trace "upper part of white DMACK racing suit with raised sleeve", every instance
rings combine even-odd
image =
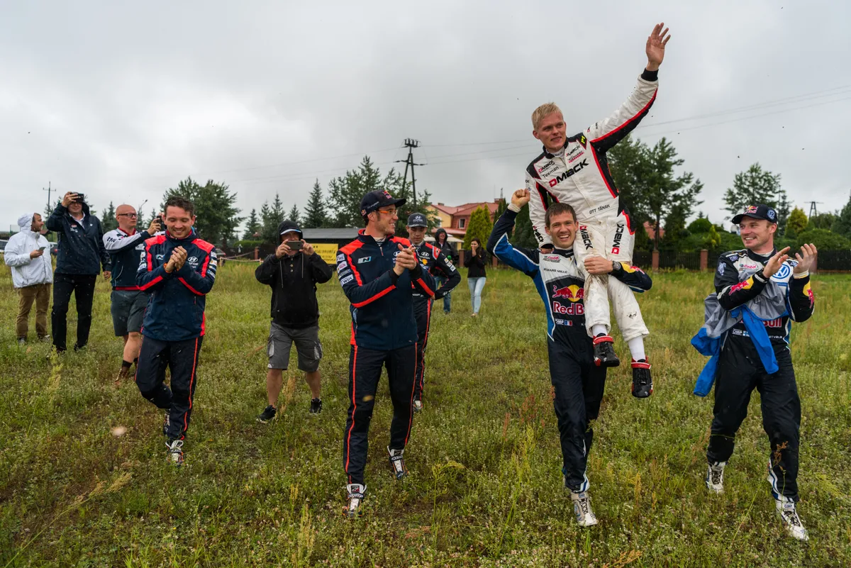
[[[544,149],[526,168],[526,188],[532,193],[529,219],[540,244],[551,243],[544,230],[544,216],[550,202],[563,202],[576,210],[576,220],[608,222],[624,213],[618,189],[608,171],[606,152],[634,130],[656,100],[659,72],[643,71],[636,88],[620,109],[584,132],[568,136],[563,153],[552,155]],[[631,227],[631,230],[635,230]]]

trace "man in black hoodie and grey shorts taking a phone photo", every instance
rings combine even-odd
[[[271,329],[267,354],[266,406],[258,422],[266,423],[277,414],[277,397],[283,385],[283,372],[289,364],[289,351],[295,344],[299,355],[299,370],[311,388],[311,414],[322,412],[319,389],[319,360],[322,343],[319,341],[319,304],[317,284],[331,279],[331,267],[313,252],[310,243],[302,238],[301,230],[292,221],[277,227],[280,244],[274,254],[266,257],[254,277],[271,287]]]

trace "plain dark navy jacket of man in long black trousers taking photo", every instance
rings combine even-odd
[[[83,226],[71,218],[71,213],[61,203],[48,217],[48,230],[59,237],[56,254],[56,274],[97,275],[100,269],[110,270],[110,258],[104,247],[104,230],[100,219],[89,213],[83,203]]]

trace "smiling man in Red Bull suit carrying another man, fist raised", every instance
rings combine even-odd
[[[554,245],[551,252],[511,246],[508,234],[529,198],[529,190],[514,192],[511,205],[494,225],[488,251],[532,278],[546,306],[547,350],[564,486],[570,490],[576,522],[580,526],[597,525],[585,468],[594,436],[591,420],[600,411],[606,367],[594,364],[593,341],[585,332],[584,274],[614,276],[637,292],[649,290],[653,282],[634,266],[602,257],[585,258],[584,270],[580,270],[573,253],[578,225],[574,208],[567,203],[553,203],[546,212],[545,230]]]

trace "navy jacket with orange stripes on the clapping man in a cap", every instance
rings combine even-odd
[[[390,351],[417,343],[414,288],[434,297],[434,277],[417,264],[401,276],[393,271],[399,245],[408,239],[387,236],[377,242],[360,230],[337,253],[337,275],[351,306],[351,344]]]

